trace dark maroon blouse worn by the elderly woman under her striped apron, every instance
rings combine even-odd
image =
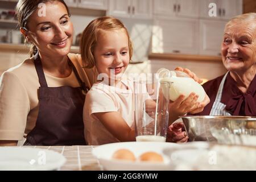
[[[216,99],[218,86],[220,86],[223,77],[224,75],[203,84],[204,90],[210,98],[210,103],[205,106],[201,113],[195,115],[210,114],[213,102]],[[242,93],[241,90],[238,89],[236,81],[234,81],[229,73],[225,80],[221,102],[226,105],[225,110],[231,115],[256,116],[256,75],[251,81],[247,92]]]

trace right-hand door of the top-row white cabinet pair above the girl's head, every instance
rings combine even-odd
[[[131,16],[134,18],[150,19],[152,18],[151,0],[133,0]]]

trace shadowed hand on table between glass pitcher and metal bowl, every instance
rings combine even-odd
[[[167,142],[184,143],[188,141],[188,136],[182,122],[172,123],[167,130]]]

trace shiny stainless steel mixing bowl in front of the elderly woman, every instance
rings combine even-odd
[[[188,133],[189,141],[256,146],[256,118],[210,115],[188,115],[181,118]]]

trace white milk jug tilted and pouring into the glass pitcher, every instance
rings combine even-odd
[[[171,101],[175,101],[181,94],[187,98],[192,92],[196,93],[199,98],[198,102],[202,102],[205,97],[205,91],[203,86],[189,77],[186,73],[180,71],[169,71],[168,69],[161,68],[158,70],[159,81],[172,82],[169,98]]]

